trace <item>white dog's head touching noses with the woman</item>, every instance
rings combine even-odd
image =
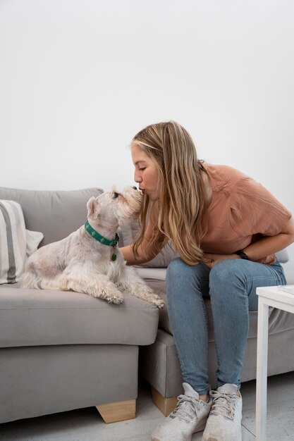
[[[93,227],[94,223],[128,225],[139,216],[142,201],[142,193],[136,187],[126,187],[121,193],[113,187],[109,192],[89,199],[87,217],[92,221]]]

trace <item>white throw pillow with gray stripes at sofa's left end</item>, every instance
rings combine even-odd
[[[25,220],[20,204],[0,199],[0,283],[18,282],[25,254]]]

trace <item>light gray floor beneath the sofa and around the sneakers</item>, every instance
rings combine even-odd
[[[255,440],[255,381],[244,383],[243,441]],[[268,380],[267,441],[294,441],[294,372]],[[149,441],[164,419],[152,402],[149,385],[140,380],[137,417],[105,424],[95,408],[80,409],[0,425],[1,441]],[[200,441],[202,433],[192,441]],[[265,440],[264,440],[265,441]]]

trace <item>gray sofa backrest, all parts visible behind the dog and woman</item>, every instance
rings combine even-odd
[[[90,197],[102,194],[101,188],[93,187],[84,190],[39,191],[17,190],[0,187],[0,199],[17,201],[23,209],[25,228],[40,231],[44,235],[40,246],[56,242],[77,230],[87,217],[87,201]],[[133,242],[139,231],[137,221],[123,227],[119,231],[123,247]],[[164,254],[159,254],[152,261],[142,266],[161,268],[178,256],[171,244],[166,245]],[[277,257],[281,263],[288,261],[286,249],[279,251]]]

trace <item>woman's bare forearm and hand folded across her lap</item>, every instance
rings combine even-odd
[[[253,244],[248,245],[243,251],[247,254],[250,261],[259,261],[270,254],[275,254],[281,249],[288,247],[294,242],[294,219],[290,218],[283,231],[276,236],[264,236]],[[237,251],[237,250],[236,250]],[[209,268],[212,268],[217,262],[224,259],[241,259],[238,254],[209,254],[205,253],[204,257],[212,259],[212,262],[207,263]]]

